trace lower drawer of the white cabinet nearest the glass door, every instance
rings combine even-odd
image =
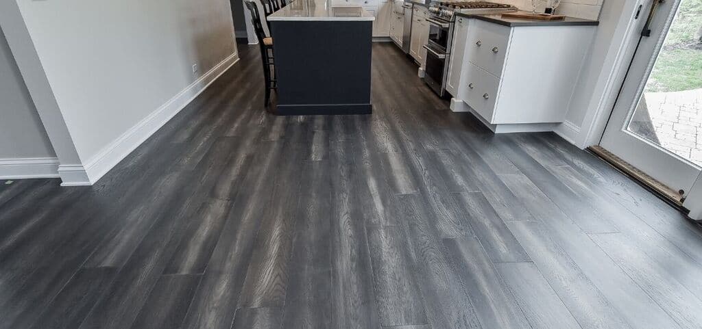
[[[463,88],[465,102],[486,121],[492,122],[500,90],[500,79],[471,63],[466,63]]]

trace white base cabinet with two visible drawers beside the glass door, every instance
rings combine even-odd
[[[543,124],[562,123],[595,27],[463,19],[465,25],[456,23],[446,83],[452,109],[467,104],[494,132],[550,130]]]

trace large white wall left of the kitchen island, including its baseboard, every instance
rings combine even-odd
[[[16,48],[34,48],[69,132],[62,139],[79,158],[73,169],[90,183],[238,58],[229,0],[6,1],[16,1],[31,39],[29,47],[14,36]],[[18,25],[0,14],[8,22]],[[22,74],[34,67],[20,64]]]

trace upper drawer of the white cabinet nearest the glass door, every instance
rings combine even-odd
[[[501,77],[510,44],[510,27],[475,20],[469,30],[466,45],[468,60],[494,76]]]

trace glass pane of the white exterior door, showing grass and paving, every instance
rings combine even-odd
[[[682,0],[628,130],[702,166],[702,0]]]

